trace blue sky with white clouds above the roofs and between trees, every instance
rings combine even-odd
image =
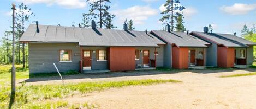
[[[4,31],[11,30],[11,4],[22,2],[35,14],[26,27],[39,21],[39,24],[71,26],[82,22],[82,14],[87,13],[86,0],[1,0],[0,1],[0,40]],[[94,1],[94,0],[91,0]],[[165,8],[166,0],[110,0],[110,12],[115,14],[114,25],[123,28],[124,20],[132,19],[135,30],[160,30],[164,27],[159,21]],[[183,10],[184,25],[189,31],[203,31],[209,24],[214,33],[241,34],[243,25],[253,27],[256,22],[256,0],[180,0]],[[0,42],[1,43],[1,42]]]

